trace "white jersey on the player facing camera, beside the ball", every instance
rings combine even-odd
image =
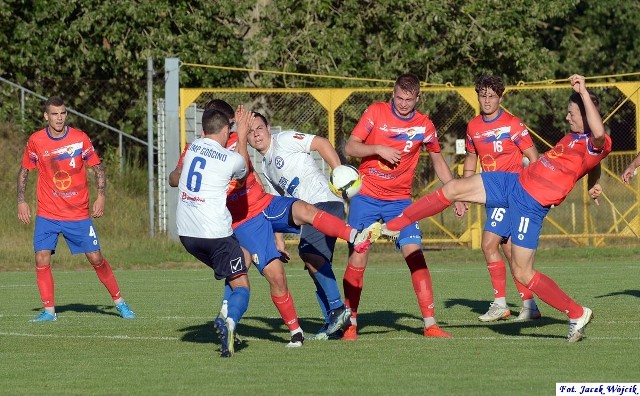
[[[310,204],[342,202],[342,199],[333,195],[327,176],[311,156],[314,137],[296,131],[272,135],[271,146],[262,159],[262,171],[280,195]]]

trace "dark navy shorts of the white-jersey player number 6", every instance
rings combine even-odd
[[[216,279],[235,278],[247,273],[244,254],[235,235],[226,238],[181,236],[180,242],[187,252],[213,270]]]

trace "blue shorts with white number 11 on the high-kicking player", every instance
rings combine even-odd
[[[542,206],[522,188],[517,173],[483,172],[480,174],[487,194],[487,207],[509,209],[511,243],[537,249],[544,217],[549,207]]]

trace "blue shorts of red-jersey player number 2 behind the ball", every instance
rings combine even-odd
[[[378,220],[387,222],[399,216],[409,205],[411,205],[411,199],[383,201],[381,199],[357,194],[351,198],[347,223],[349,223],[351,227],[361,230]],[[416,222],[400,230],[400,236],[398,237],[396,246],[420,245],[421,243],[422,231],[420,230],[420,224]]]

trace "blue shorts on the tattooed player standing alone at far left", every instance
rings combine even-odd
[[[98,234],[91,219],[51,220],[36,216],[33,230],[33,249],[36,252],[51,250],[55,254],[58,237],[62,234],[72,254],[91,253],[100,250]]]

